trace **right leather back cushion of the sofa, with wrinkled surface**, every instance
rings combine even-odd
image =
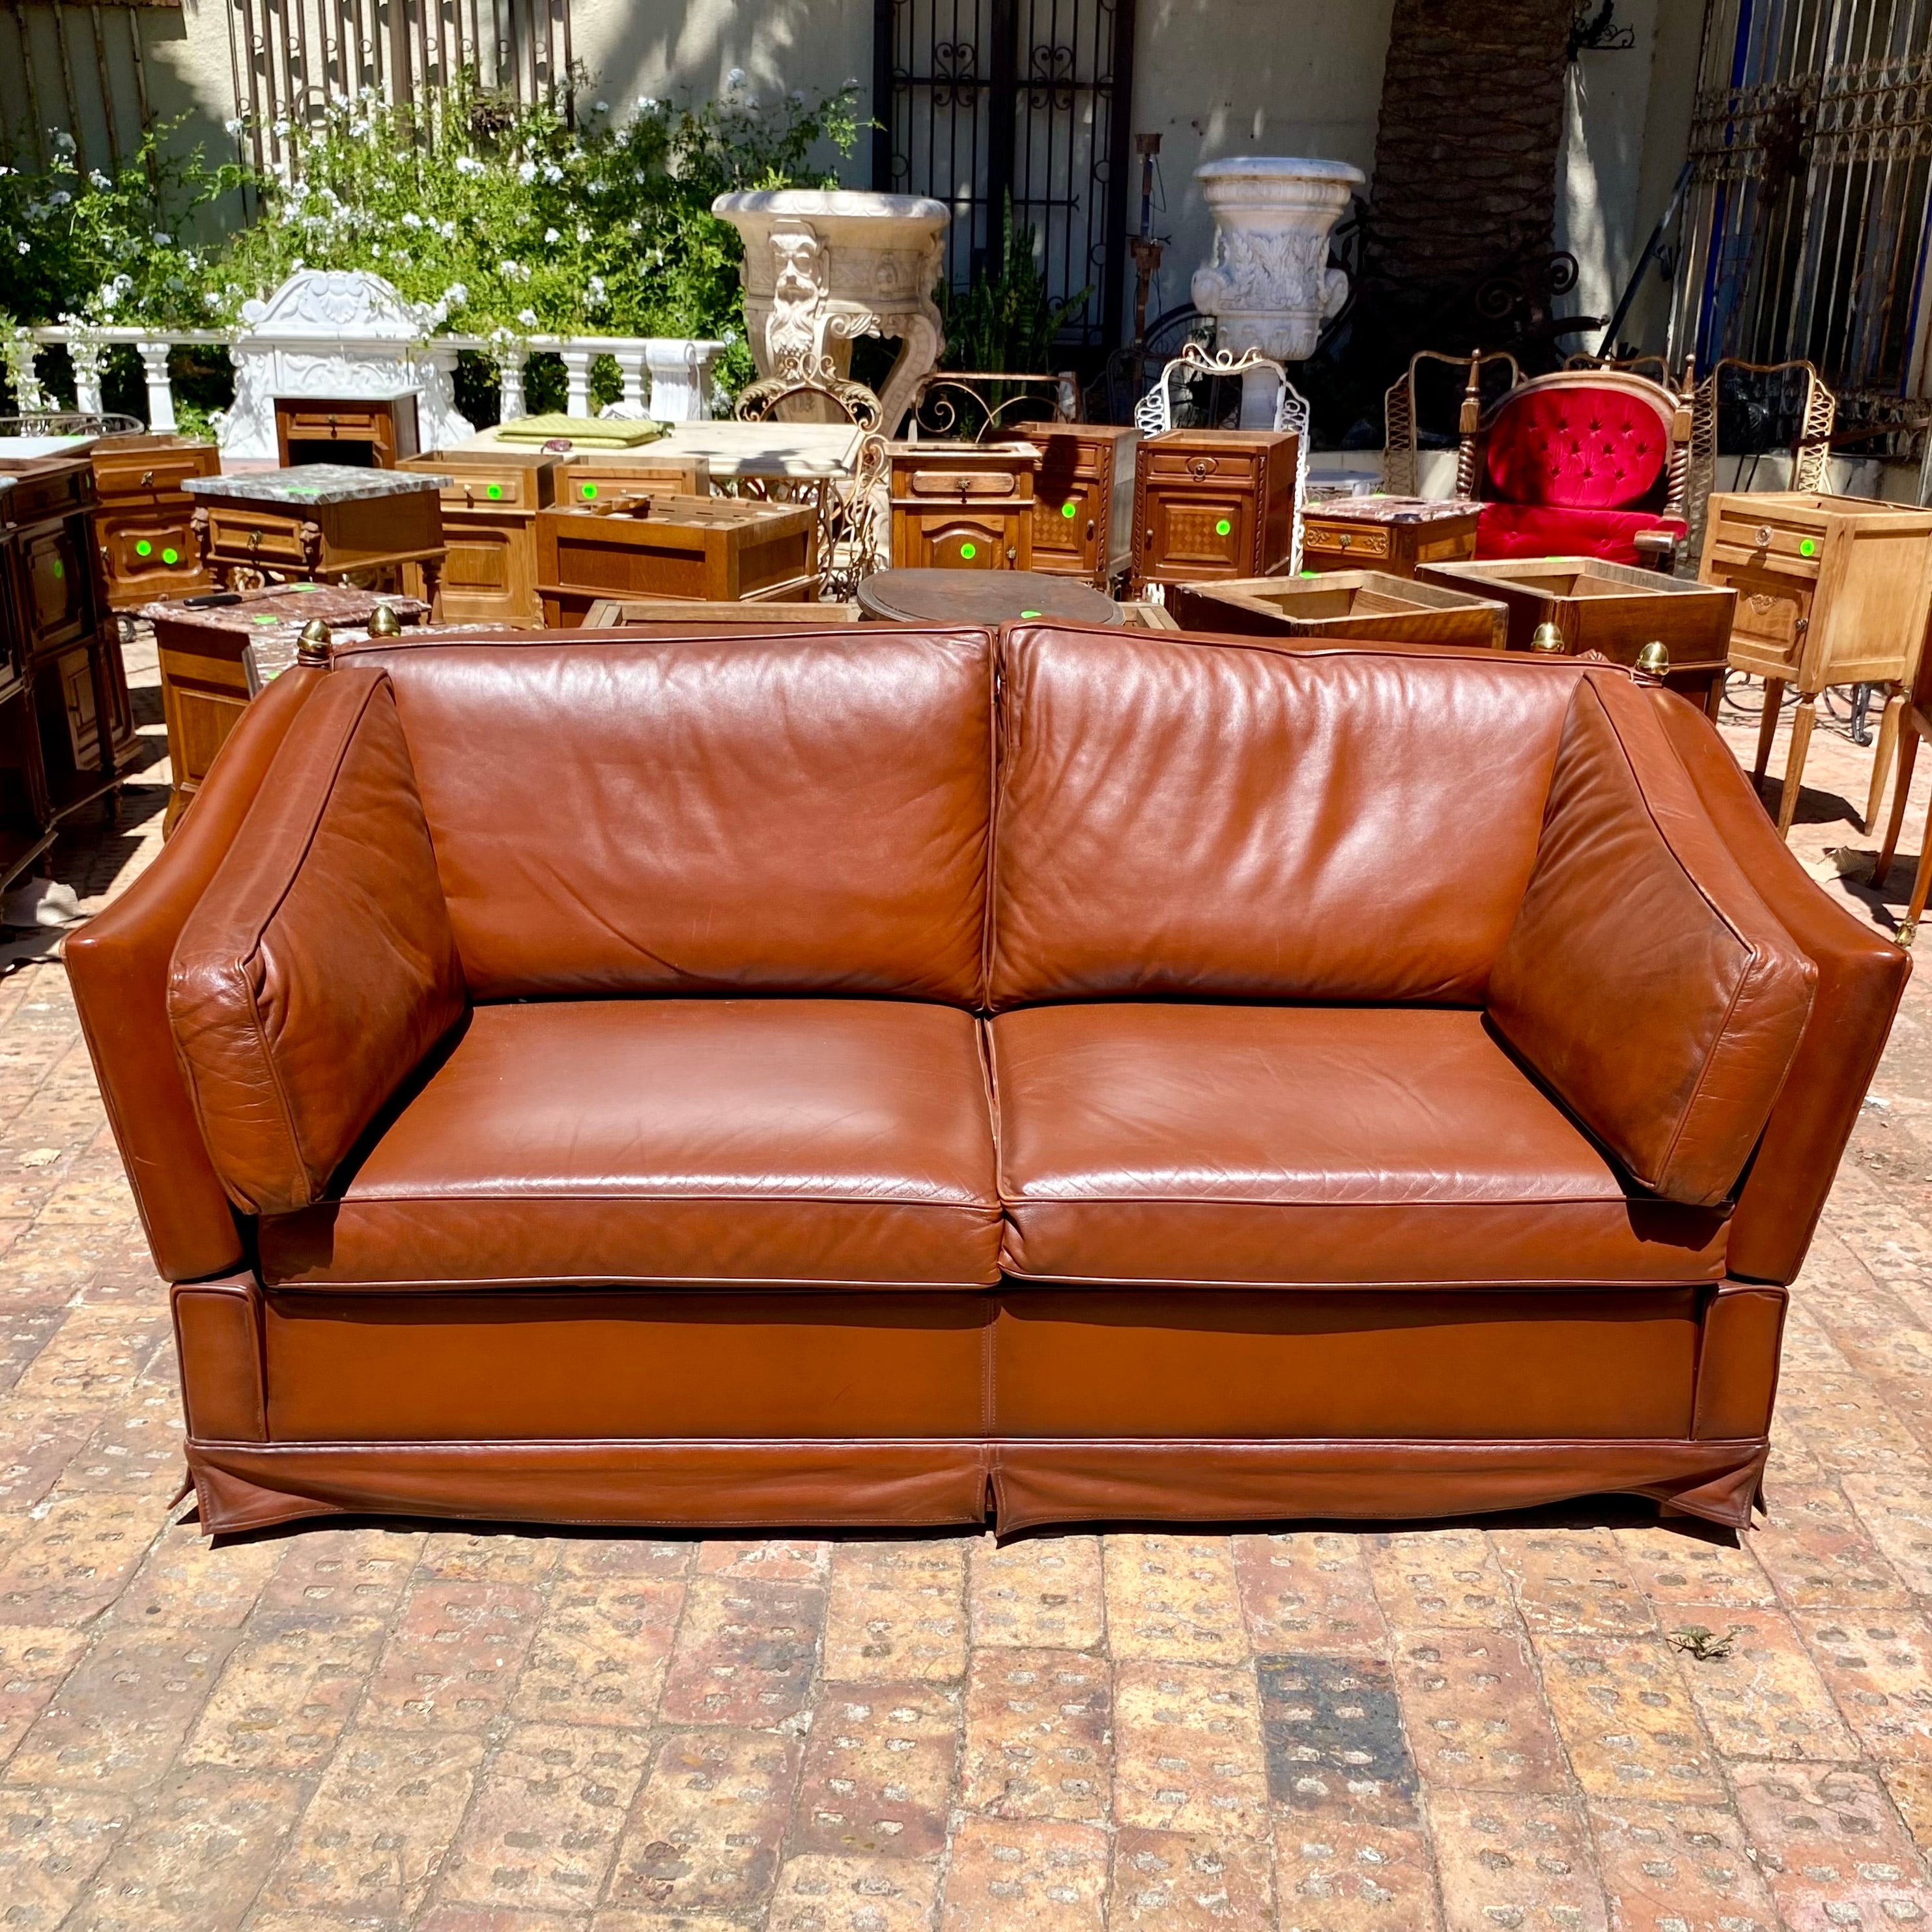
[[[991,1005],[1480,1005],[1575,663],[1010,632]]]

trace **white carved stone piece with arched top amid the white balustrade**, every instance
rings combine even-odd
[[[386,396],[419,390],[425,450],[468,442],[475,427],[456,408],[456,350],[427,340],[427,317],[379,274],[301,269],[267,301],[242,309],[236,400],[222,425],[222,460],[276,460],[276,396]]]

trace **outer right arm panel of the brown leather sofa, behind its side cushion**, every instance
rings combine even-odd
[[[1694,705],[1669,692],[1652,692],[1650,705],[1718,833],[1818,970],[1818,997],[1739,1190],[1725,1250],[1733,1275],[1791,1283],[1886,1051],[1913,960],[1791,856],[1729,746]]]

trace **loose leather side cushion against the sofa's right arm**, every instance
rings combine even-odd
[[[1492,1024],[1638,1186],[1714,1206],[1764,1132],[1816,983],[1644,696],[1619,674],[1578,680]]]

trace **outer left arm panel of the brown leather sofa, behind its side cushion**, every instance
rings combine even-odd
[[[114,1142],[166,1281],[222,1275],[243,1258],[174,1059],[168,962],[321,678],[298,665],[247,707],[155,864],[62,947]]]

